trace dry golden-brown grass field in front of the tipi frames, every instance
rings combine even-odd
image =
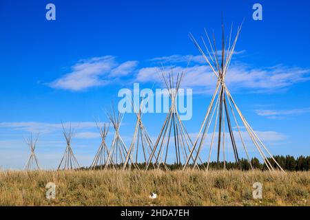
[[[257,181],[262,199],[252,197]],[[56,184],[55,199],[45,197],[48,182]],[[0,172],[0,206],[309,206],[309,194],[310,172]]]

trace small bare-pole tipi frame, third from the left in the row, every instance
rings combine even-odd
[[[99,125],[96,122],[96,126],[99,129],[101,135],[101,144],[99,149],[94,157],[91,168],[105,168],[105,164],[107,163],[107,158],[109,157],[109,149],[107,148],[107,143],[105,142],[105,138],[107,137],[107,133],[109,132],[110,124],[103,124],[103,126]]]

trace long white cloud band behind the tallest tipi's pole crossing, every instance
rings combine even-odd
[[[165,72],[169,72],[168,67]],[[170,67],[169,67],[170,68]],[[191,87],[194,93],[211,93],[216,84],[216,76],[207,65],[191,67],[175,66],[174,72],[184,72],[182,87]],[[141,68],[136,75],[138,82],[158,82],[161,69],[158,67]],[[226,83],[229,89],[247,89],[251,92],[271,93],[288,89],[291,85],[310,80],[310,69],[300,67],[251,68],[245,64],[231,65],[227,72]]]

